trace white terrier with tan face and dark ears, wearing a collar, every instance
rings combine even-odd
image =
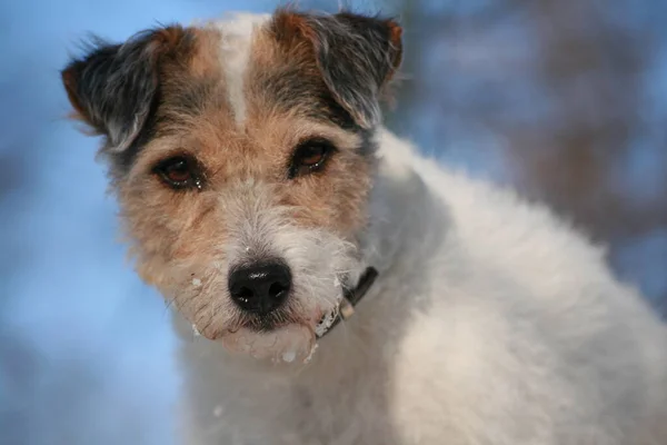
[[[667,329],[605,251],[381,122],[396,20],[279,9],[61,71],[182,338],[182,444],[665,445]]]

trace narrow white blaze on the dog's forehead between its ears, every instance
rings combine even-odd
[[[220,60],[226,77],[229,105],[238,126],[246,119],[245,77],[250,60],[252,34],[270,19],[270,14],[235,12],[217,22],[221,32]]]

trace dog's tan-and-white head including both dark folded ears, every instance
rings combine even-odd
[[[98,42],[62,71],[140,275],[203,336],[308,354],[357,261],[400,56],[390,20],[278,11]]]

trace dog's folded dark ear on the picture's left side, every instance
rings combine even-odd
[[[126,150],[157,98],[161,58],[181,50],[189,37],[172,26],[140,32],[121,44],[93,39],[87,53],[61,71],[73,117],[106,136],[107,150]]]

